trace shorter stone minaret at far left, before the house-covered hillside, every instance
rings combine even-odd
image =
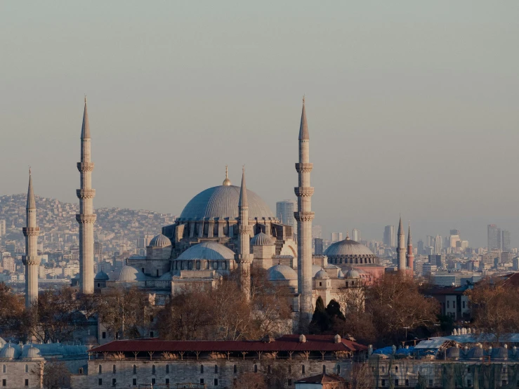
[[[25,236],[25,308],[31,308],[38,302],[38,235],[39,228],[36,224],[36,201],[32,190],[31,169],[29,169],[29,189],[27,190],[27,227],[23,228]]]

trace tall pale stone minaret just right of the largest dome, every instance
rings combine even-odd
[[[299,162],[296,171],[299,176],[299,186],[294,188],[297,196],[297,212],[294,217],[297,220],[297,280],[300,294],[299,311],[301,329],[306,329],[313,315],[312,303],[312,194],[310,187],[310,136],[306,123],[305,98],[303,98],[303,111],[301,112],[301,125],[299,126]]]

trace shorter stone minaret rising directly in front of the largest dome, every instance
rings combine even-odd
[[[239,268],[239,286],[247,301],[251,298],[251,226],[249,225],[249,201],[245,185],[245,168],[242,172],[242,187],[239,188],[238,202],[238,254],[236,262]]]

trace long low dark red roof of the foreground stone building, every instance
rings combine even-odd
[[[307,335],[306,342],[299,342],[298,335],[285,335],[275,341],[160,341],[152,339],[112,341],[92,348],[90,352],[240,352],[240,351],[361,351],[365,345],[341,339],[334,343],[334,336]]]

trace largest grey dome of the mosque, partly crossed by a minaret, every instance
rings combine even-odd
[[[249,199],[249,219],[272,218],[274,214],[258,194],[247,190]],[[238,218],[239,187],[220,185],[210,187],[195,197],[180,213],[180,220],[204,220],[206,218]]]

